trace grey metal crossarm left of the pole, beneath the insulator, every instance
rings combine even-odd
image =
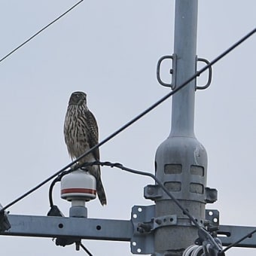
[[[94,218],[66,218],[32,215],[8,215],[9,230],[2,236],[38,236],[130,241],[133,222]]]

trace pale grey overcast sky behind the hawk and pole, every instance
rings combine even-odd
[[[75,1],[2,1],[1,48],[5,56]],[[100,140],[147,108],[168,88],[157,84],[156,63],[173,52],[174,0],[84,1],[66,17],[0,63],[2,178],[0,202],[14,200],[69,163],[62,126],[72,91],[87,92]],[[254,0],[199,1],[197,53],[214,59],[254,29]],[[208,186],[218,189],[221,224],[256,226],[255,35],[218,62],[212,85],[197,91],[195,133],[209,157]],[[168,79],[166,77],[166,79]],[[201,79],[201,78],[200,78]],[[203,79],[203,78],[202,78]],[[204,81],[200,80],[202,84]],[[102,146],[102,160],[154,173],[157,146],[169,135],[171,100]],[[102,168],[108,206],[87,204],[90,218],[130,219],[133,205],[149,205],[148,178]],[[49,184],[12,206],[11,214],[46,215]],[[69,203],[54,202],[65,215]],[[84,255],[50,239],[0,237],[2,254]],[[94,256],[130,255],[128,242],[84,241]],[[227,255],[253,255],[233,248]]]

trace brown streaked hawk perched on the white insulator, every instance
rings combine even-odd
[[[98,125],[93,113],[87,108],[87,95],[72,93],[64,123],[65,142],[72,160],[80,157],[99,143]],[[88,154],[79,163],[99,160],[99,148]],[[107,204],[99,166],[88,166],[88,172],[96,178],[96,190],[102,206]]]

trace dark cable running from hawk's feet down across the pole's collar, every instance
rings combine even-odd
[[[201,230],[201,232],[204,233],[204,235],[209,239],[209,241],[212,242],[212,245],[215,245],[215,247],[218,248],[219,251],[222,250],[221,246],[218,245],[218,243],[215,241],[215,239],[203,227],[200,227],[200,224],[198,224],[196,219],[192,215],[190,215],[190,212],[188,212],[188,210],[185,209],[181,205],[181,203],[179,203],[179,201],[172,195],[172,193],[169,192],[169,190],[167,190],[167,188],[164,186],[164,184],[154,174],[152,174],[150,172],[142,172],[142,171],[138,171],[135,169],[130,169],[130,168],[123,166],[121,163],[95,161],[95,162],[91,162],[91,163],[85,163],[83,166],[86,167],[86,166],[93,166],[93,165],[116,167],[116,168],[122,169],[126,172],[131,172],[134,174],[144,175],[144,176],[153,178],[154,181],[157,182],[157,184],[163,189],[163,191],[166,192],[166,194],[175,202],[175,204],[178,206],[178,208],[181,209],[183,214],[187,215],[187,217],[190,218],[190,221],[192,221],[194,223],[194,225],[197,227],[197,229]]]

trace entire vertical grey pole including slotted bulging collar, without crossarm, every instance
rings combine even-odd
[[[196,72],[197,0],[175,2],[176,58],[175,87]],[[172,129],[157,148],[156,175],[172,195],[200,224],[205,218],[207,154],[194,136],[194,98],[192,81],[172,98]],[[197,228],[175,203],[163,194],[157,198],[155,216],[163,221],[175,215],[176,225],[163,225],[155,231],[154,255],[181,255],[197,239]]]

